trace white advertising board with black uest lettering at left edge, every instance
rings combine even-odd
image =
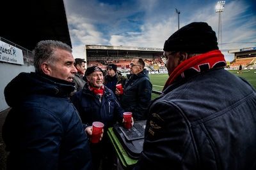
[[[0,61],[23,65],[22,50],[0,41]]]

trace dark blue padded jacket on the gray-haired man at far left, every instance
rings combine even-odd
[[[68,81],[36,73],[20,73],[6,86],[8,168],[91,169],[88,138],[68,99],[72,90]]]

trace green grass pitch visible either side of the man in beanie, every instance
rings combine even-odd
[[[237,71],[231,70],[230,73],[241,76],[249,81],[256,89],[256,70],[243,70],[243,73],[237,74]],[[168,74],[149,74],[150,81],[153,85],[153,90],[162,91]],[[157,94],[152,94],[152,99],[156,98]]]

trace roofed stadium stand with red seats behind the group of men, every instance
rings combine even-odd
[[[145,68],[148,71],[159,71],[160,66],[164,67],[161,55],[163,55],[161,48],[86,45],[85,60],[87,60],[88,67],[95,65],[102,69],[114,63],[117,69],[124,73],[129,72],[129,64],[134,57],[141,57],[145,60]]]

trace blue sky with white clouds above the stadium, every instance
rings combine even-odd
[[[218,1],[212,0],[64,0],[75,58],[83,58],[85,45],[163,48],[164,41],[191,22],[207,22],[218,37]],[[256,46],[256,1],[225,1],[221,13],[219,48],[226,60],[228,50]]]

